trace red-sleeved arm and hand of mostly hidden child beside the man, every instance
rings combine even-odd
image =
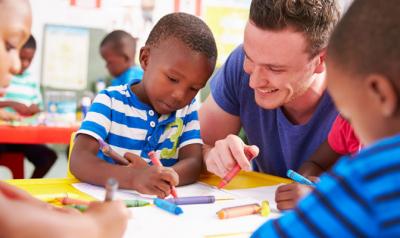
[[[312,181],[328,171],[343,155],[354,155],[361,149],[361,143],[350,123],[338,115],[328,134],[328,139],[317,149],[311,158],[300,167],[299,173]],[[297,202],[310,193],[314,187],[299,183],[279,186],[275,201],[280,210],[292,209]]]

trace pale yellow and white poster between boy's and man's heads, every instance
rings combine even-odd
[[[203,0],[203,19],[217,42],[218,67],[243,42],[249,8],[250,0]]]

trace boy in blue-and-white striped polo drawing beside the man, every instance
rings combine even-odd
[[[202,141],[193,98],[211,76],[216,57],[214,37],[199,18],[185,13],[161,18],[140,50],[143,80],[110,87],[95,98],[77,132],[71,172],[93,184],[112,176],[122,188],[159,197],[168,196],[171,185],[195,182]],[[155,151],[170,167],[117,165],[99,151],[98,140],[146,162]]]

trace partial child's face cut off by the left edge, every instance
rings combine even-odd
[[[31,12],[27,1],[4,0],[0,4],[0,89],[8,86],[12,74],[19,73],[19,49],[28,39],[30,29]]]

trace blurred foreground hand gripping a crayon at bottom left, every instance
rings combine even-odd
[[[99,238],[122,237],[131,216],[122,201],[92,202],[84,214],[96,223]]]

